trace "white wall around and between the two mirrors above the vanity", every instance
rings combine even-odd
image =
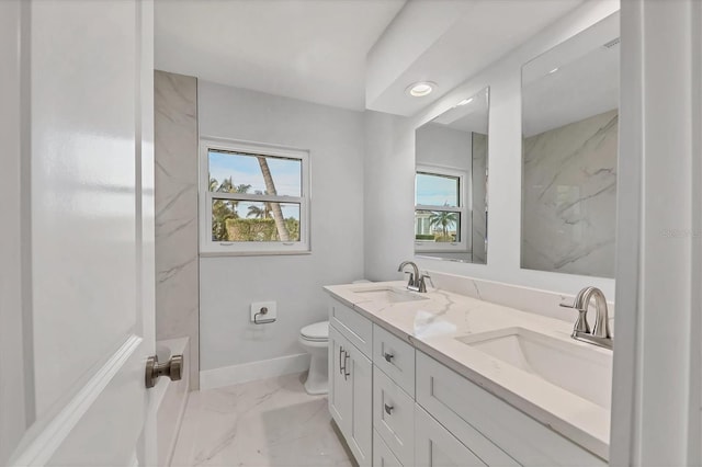
[[[614,296],[613,280],[520,269],[521,66],[618,9],[619,1],[615,0],[587,2],[412,118],[370,113],[365,168],[366,276],[397,278],[397,264],[412,258],[415,129],[461,99],[489,86],[488,263],[479,265],[428,259],[418,259],[418,263],[423,269],[566,294],[577,293],[585,285],[595,285],[602,288],[609,299]],[[383,228],[373,228],[374,225]]]

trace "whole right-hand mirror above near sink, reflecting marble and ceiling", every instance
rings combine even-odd
[[[614,277],[619,13],[522,67],[524,269]]]

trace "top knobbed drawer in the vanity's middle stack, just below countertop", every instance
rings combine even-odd
[[[373,324],[373,364],[415,397],[415,348]]]

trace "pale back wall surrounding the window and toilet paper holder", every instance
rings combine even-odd
[[[201,368],[301,354],[299,329],[327,318],[321,287],[363,276],[363,114],[200,81],[199,115],[201,137],[308,149],[312,168],[310,254],[201,258]],[[278,322],[250,322],[259,300]]]

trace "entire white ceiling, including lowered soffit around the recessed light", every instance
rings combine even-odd
[[[412,115],[582,0],[156,0],[165,71]],[[427,98],[408,84],[439,84]]]

